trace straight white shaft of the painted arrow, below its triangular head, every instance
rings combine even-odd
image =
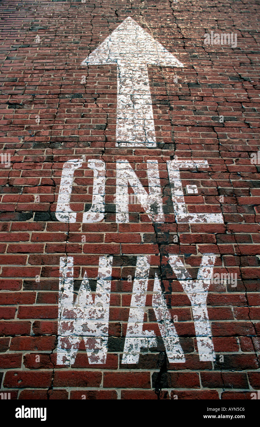
[[[146,64],[118,64],[116,146],[156,146]]]

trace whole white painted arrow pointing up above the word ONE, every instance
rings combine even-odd
[[[183,64],[130,17],[82,64],[117,64],[116,146],[156,146],[147,64]]]

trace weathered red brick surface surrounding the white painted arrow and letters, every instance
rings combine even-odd
[[[260,184],[250,161],[260,149],[259,12],[256,0],[1,2],[0,152],[11,165],[0,164],[0,380],[12,399],[250,399],[260,389]],[[116,148],[116,64],[81,65],[129,16],[184,64],[148,66],[154,148]],[[211,30],[236,33],[237,47],[205,45]],[[82,222],[93,190],[86,160],[74,173],[76,222],[58,221],[64,163],[82,155],[106,164],[104,219]],[[190,213],[222,213],[222,224],[176,222],[173,155],[208,161],[181,170],[185,203]],[[158,161],[163,223],[136,204],[129,222],[116,222],[121,159],[146,189],[147,160]],[[196,279],[209,253],[214,272],[237,274],[237,287],[208,292],[214,362],[199,360],[191,302],[168,263],[181,255]],[[87,272],[93,291],[104,254],[113,255],[106,363],[89,363],[81,342],[75,363],[57,366],[60,257],[73,257],[75,287]],[[138,255],[150,255],[144,328],[160,337],[156,273],[185,363],[169,363],[162,339],[122,363]]]

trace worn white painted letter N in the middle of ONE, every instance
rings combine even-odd
[[[116,162],[116,222],[129,222],[128,183],[153,222],[164,222],[162,191],[157,160],[147,160],[149,194],[127,160]]]

